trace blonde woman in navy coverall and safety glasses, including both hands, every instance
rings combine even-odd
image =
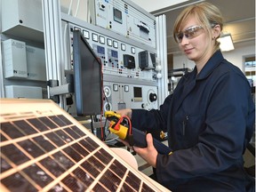
[[[134,150],[156,168],[156,180],[172,191],[248,191],[243,154],[252,138],[255,108],[244,74],[225,60],[219,42],[223,21],[209,3],[180,13],[173,36],[196,68],[180,79],[159,109],[123,109],[140,130],[168,132],[171,155],[158,154],[151,134]]]

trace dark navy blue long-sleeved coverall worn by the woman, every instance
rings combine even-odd
[[[253,184],[243,154],[255,106],[239,68],[213,54],[197,75],[182,76],[160,109],[132,109],[132,126],[168,132],[172,155],[157,155],[156,178],[172,191],[246,191]]]

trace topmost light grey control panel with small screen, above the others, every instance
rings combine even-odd
[[[93,24],[156,48],[156,18],[132,2],[95,0],[92,9]]]

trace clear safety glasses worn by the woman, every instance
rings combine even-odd
[[[175,39],[177,43],[181,43],[183,36],[186,36],[188,39],[193,39],[196,36],[199,36],[203,32],[203,27],[202,26],[192,26],[189,28],[186,28],[184,31],[180,31],[179,33],[175,34]]]

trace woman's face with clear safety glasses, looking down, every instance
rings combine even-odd
[[[194,60],[196,63],[206,62],[212,56],[214,41],[212,36],[208,36],[207,31],[200,26],[194,17],[188,18],[180,33],[176,35],[180,50],[185,53],[188,60]]]

